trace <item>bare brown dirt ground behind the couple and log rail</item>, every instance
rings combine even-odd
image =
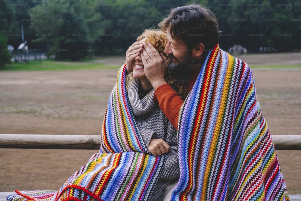
[[[300,135],[300,53],[245,55],[272,135]],[[93,61],[122,64],[124,58]],[[116,70],[0,72],[0,133],[99,135]],[[0,191],[58,190],[97,150],[0,149]],[[289,194],[301,194],[301,150],[278,150]]]

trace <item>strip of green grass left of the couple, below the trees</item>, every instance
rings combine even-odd
[[[90,60],[89,60],[90,61]],[[1,71],[66,71],[79,69],[118,69],[120,66],[110,66],[100,63],[87,63],[85,61],[53,61],[50,59],[40,61],[29,61],[29,63],[5,64]]]

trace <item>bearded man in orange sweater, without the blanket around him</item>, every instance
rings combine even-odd
[[[187,86],[190,91],[208,51],[218,44],[219,26],[216,17],[208,8],[198,5],[183,6],[173,9],[169,16],[159,24],[159,27],[166,32],[168,40],[165,53],[173,56],[169,68],[191,71]],[[148,52],[150,52],[149,55]],[[178,111],[183,101],[172,92],[171,87],[164,80],[166,71],[163,68],[164,61],[151,46],[144,46],[141,57],[142,59],[150,58],[145,61],[147,63],[144,67],[145,74],[156,90],[155,97],[162,105],[161,109],[165,108],[164,106],[170,108],[170,105],[174,105],[174,108],[166,112],[166,115],[177,129]]]

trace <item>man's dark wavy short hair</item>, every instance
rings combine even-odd
[[[188,49],[203,43],[204,51],[208,52],[219,43],[220,31],[215,14],[198,4],[173,8],[158,26],[163,32],[169,30],[172,39],[182,39]]]

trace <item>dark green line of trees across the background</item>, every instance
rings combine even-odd
[[[29,49],[47,51],[57,60],[125,55],[144,28],[157,28],[171,8],[192,2],[216,14],[222,49],[234,44],[249,52],[301,49],[298,0],[2,0],[0,48],[10,44],[17,49],[23,25]]]

